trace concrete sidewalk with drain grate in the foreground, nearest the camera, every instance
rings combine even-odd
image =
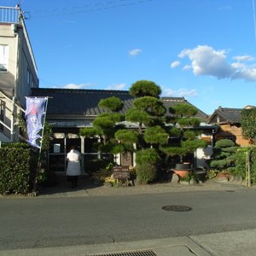
[[[75,247],[1,251],[2,256],[252,256],[256,230]]]

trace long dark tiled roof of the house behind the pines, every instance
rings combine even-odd
[[[49,89],[33,88],[32,96],[49,96],[47,113],[48,115],[83,115],[96,116],[104,112],[98,108],[98,102],[111,96],[117,96],[124,102],[122,113],[132,107],[133,97],[128,90],[78,90],[78,89]],[[187,102],[183,97],[163,97],[166,109],[178,102]],[[190,103],[189,103],[190,104]],[[190,104],[191,105],[191,104]],[[195,107],[195,106],[194,106]],[[207,114],[198,109],[197,117],[207,119]]]

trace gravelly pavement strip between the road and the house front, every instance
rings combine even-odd
[[[255,187],[252,187],[254,189]],[[177,193],[184,191],[206,191],[206,190],[234,190],[248,189],[239,182],[220,182],[210,180],[206,183],[183,184],[177,182],[154,183],[148,185],[109,187],[106,185],[95,185],[90,183],[86,177],[80,177],[79,186],[71,189],[70,183],[61,180],[60,184],[54,187],[40,189],[38,197],[77,197],[77,196],[109,196],[109,195],[137,195],[155,193]]]

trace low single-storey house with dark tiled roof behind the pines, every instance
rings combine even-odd
[[[93,120],[105,110],[97,106],[101,99],[111,96],[119,97],[124,102],[121,113],[131,108],[133,97],[127,90],[73,90],[73,89],[44,89],[33,88],[32,96],[48,96],[47,122],[52,126],[55,138],[49,150],[49,167],[56,172],[64,172],[66,167],[65,156],[71,145],[76,145],[84,155],[83,169],[86,170],[88,160],[102,157],[102,154],[93,150],[93,143],[97,138],[79,137],[79,129],[91,127]],[[187,102],[183,97],[163,97],[166,109],[179,102]],[[201,119],[201,130],[204,137],[212,143],[212,129],[216,127],[206,125],[207,114],[198,109],[197,117]],[[137,128],[136,124],[125,122],[127,129]],[[108,157],[108,155],[103,155]],[[120,155],[116,161],[120,165],[135,165],[134,158],[126,159]]]

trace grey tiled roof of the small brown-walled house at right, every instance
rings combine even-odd
[[[240,124],[242,108],[218,107],[209,117],[207,124]]]

